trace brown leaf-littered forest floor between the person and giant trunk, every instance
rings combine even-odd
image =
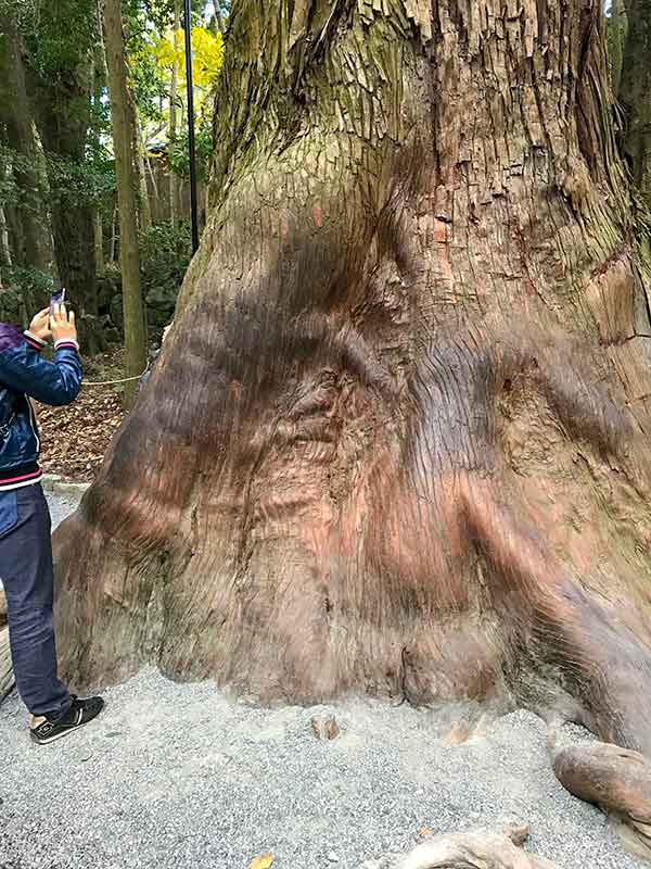
[[[124,349],[84,360],[85,385],[68,407],[37,405],[41,465],[47,474],[90,482],[125,417],[120,386],[92,386],[124,377]]]

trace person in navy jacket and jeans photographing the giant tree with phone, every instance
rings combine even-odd
[[[54,341],[52,362],[40,353]],[[46,745],[95,718],[101,697],[80,700],[60,680],[52,622],[51,520],[38,464],[40,439],[30,399],[71,404],[81,386],[75,315],[41,311],[22,333],[0,324],[0,578],[21,698],[31,739]]]

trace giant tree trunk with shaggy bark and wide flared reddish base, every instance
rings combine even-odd
[[[651,753],[649,273],[598,5],[233,5],[202,247],[56,537],[75,682],[525,704]]]

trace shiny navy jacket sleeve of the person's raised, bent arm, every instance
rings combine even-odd
[[[81,387],[81,360],[72,344],[60,348],[52,362],[27,341],[0,353],[0,381],[15,392],[55,407],[72,404]]]

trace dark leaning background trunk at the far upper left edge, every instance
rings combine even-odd
[[[44,201],[44,158],[25,85],[25,67],[16,23],[11,11],[0,11],[0,125],[8,143],[17,152],[13,172],[23,193],[16,211],[24,241],[23,260],[43,272],[53,266],[52,234]]]

